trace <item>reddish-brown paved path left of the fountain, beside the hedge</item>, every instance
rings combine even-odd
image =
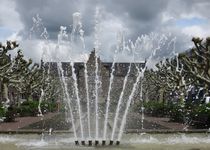
[[[2,122],[0,123],[0,131],[14,131],[19,130],[25,126],[30,124],[39,122],[41,120],[47,120],[58,113],[47,113],[43,117],[17,117],[15,118],[15,122]]]

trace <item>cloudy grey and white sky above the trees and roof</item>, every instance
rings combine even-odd
[[[18,40],[26,57],[39,61],[43,50],[52,55],[64,54],[79,58],[81,52],[90,52],[95,41],[95,16],[99,8],[97,32],[100,41],[100,55],[110,61],[116,44],[135,45],[143,60],[159,48],[159,55],[167,57],[172,51],[180,52],[192,46],[192,36],[205,38],[210,35],[209,0],[0,0],[0,41]],[[72,14],[81,13],[82,29],[86,48],[80,46],[71,52],[57,50],[57,35],[60,26],[66,26],[67,34],[72,33]],[[41,40],[40,31],[34,29],[29,40],[33,17],[39,14],[42,26],[46,27],[49,38]],[[163,39],[160,44],[160,39]],[[44,46],[43,46],[43,43]],[[77,41],[77,44],[79,42]],[[148,44],[149,43],[149,44]],[[159,43],[159,44],[158,44]],[[172,44],[173,43],[173,44]],[[171,45],[170,45],[171,44]],[[78,44],[81,45],[81,42]],[[152,46],[151,46],[152,45]],[[160,46],[161,45],[161,46]],[[170,46],[167,46],[170,45]],[[158,47],[159,46],[159,47]],[[52,50],[53,49],[53,50]],[[129,61],[132,52],[119,54],[122,61]],[[61,55],[61,57],[64,57]]]

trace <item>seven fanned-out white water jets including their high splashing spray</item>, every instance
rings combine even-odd
[[[72,58],[70,58],[70,67],[71,67],[71,78],[73,79],[73,94],[75,94],[75,99],[73,99],[73,94],[70,95],[69,91],[70,88],[68,87],[67,84],[67,79],[65,77],[64,74],[64,69],[62,67],[62,62],[61,59],[59,59],[58,63],[57,63],[57,69],[58,69],[58,76],[60,78],[61,81],[61,87],[63,89],[63,95],[64,95],[64,101],[66,104],[66,107],[69,111],[70,114],[70,120],[72,123],[72,129],[74,132],[74,137],[75,140],[78,141],[78,139],[81,139],[82,141],[85,140],[85,134],[84,134],[84,129],[85,129],[85,124],[83,124],[83,120],[82,120],[82,116],[84,114],[87,113],[87,128],[88,128],[88,139],[92,140],[91,138],[95,138],[96,141],[98,141],[98,139],[100,138],[99,135],[99,89],[101,88],[101,81],[100,81],[100,64],[99,64],[99,54],[100,54],[100,48],[101,48],[101,43],[100,43],[100,32],[101,32],[101,26],[100,26],[100,10],[99,8],[96,9],[96,13],[95,13],[95,41],[94,41],[94,47],[95,47],[95,86],[94,86],[94,108],[95,108],[95,120],[91,120],[91,114],[90,114],[90,109],[91,109],[91,100],[90,100],[90,95],[89,95],[89,76],[88,76],[88,67],[87,67],[87,61],[84,61],[84,79],[85,79],[85,93],[86,93],[86,105],[87,105],[87,112],[83,112],[82,111],[82,105],[80,104],[80,93],[79,93],[79,87],[78,87],[78,78],[77,75],[75,73],[75,62],[73,61]],[[42,23],[39,23],[38,21],[41,20],[41,18],[38,16],[37,18],[34,19],[34,21],[36,22],[37,25],[34,25],[34,28],[39,28],[39,26],[41,25],[43,27]],[[31,31],[33,32],[33,30]],[[81,14],[76,12],[73,14],[73,28],[72,31],[70,33],[70,38],[66,32],[66,27],[61,26],[60,27],[60,32],[58,34],[58,44],[56,49],[57,50],[61,50],[63,49],[63,45],[64,46],[68,46],[68,49],[71,51],[74,48],[74,44],[77,38],[77,35],[79,35],[79,39],[82,43],[82,48],[83,50],[85,50],[86,46],[85,46],[85,39],[84,39],[84,30],[82,29],[82,22],[81,22]],[[43,28],[43,32],[41,34],[41,37],[43,37],[44,39],[46,39],[46,41],[48,41],[48,34],[47,34],[47,30],[46,28]],[[158,39],[158,40],[157,40]],[[121,32],[121,34],[118,35],[118,45],[117,45],[117,50],[118,52],[122,52],[124,50],[129,50],[133,53],[133,57],[135,57],[136,54],[140,53],[139,50],[152,50],[151,55],[148,57],[147,63],[151,63],[152,62],[152,58],[156,55],[156,52],[158,50],[161,49],[161,45],[165,44],[165,42],[167,37],[166,36],[160,36],[158,37],[155,34],[151,34],[151,35],[144,35],[141,37],[138,37],[137,40],[135,41],[135,43],[133,43],[131,40],[129,40],[128,44],[130,45],[126,45],[125,44],[125,37],[123,35],[123,33]],[[157,42],[156,42],[157,41]],[[47,50],[48,51],[48,50]],[[115,52],[116,53],[116,52]],[[45,56],[46,55],[46,56]],[[52,58],[50,55],[46,54],[43,52],[43,58],[44,57],[50,57]],[[106,109],[105,109],[105,113],[104,113],[104,124],[103,124],[103,134],[102,134],[102,139],[103,140],[107,140],[108,137],[108,132],[107,132],[107,126],[108,126],[108,120],[109,120],[109,114],[110,114],[110,103],[112,101],[111,98],[111,92],[112,92],[112,84],[114,82],[114,72],[115,72],[115,65],[116,65],[116,57],[117,54],[114,54],[114,59],[112,62],[112,66],[111,66],[111,73],[110,73],[110,79],[109,79],[109,86],[108,86],[108,92],[107,92],[107,101],[106,101]],[[44,59],[45,61],[47,59]],[[52,61],[52,59],[50,59],[50,61]],[[135,63],[135,59],[134,62]],[[114,115],[114,123],[113,123],[113,127],[111,130],[111,137],[110,140],[114,141],[115,140],[115,135],[117,134],[116,130],[117,130],[117,126],[119,124],[120,128],[118,131],[118,135],[117,135],[117,141],[120,141],[122,138],[122,134],[123,134],[123,130],[126,124],[126,118],[129,112],[129,108],[131,105],[131,101],[133,100],[135,91],[137,90],[137,87],[140,83],[140,101],[142,102],[142,106],[141,106],[141,126],[142,129],[143,124],[144,124],[144,105],[143,105],[143,83],[142,83],[142,79],[144,77],[144,71],[146,69],[146,66],[148,66],[148,64],[146,64],[144,66],[144,68],[141,67],[137,67],[137,74],[136,74],[136,81],[133,84],[131,93],[128,97],[128,100],[126,101],[126,108],[123,114],[123,117],[120,118],[120,110],[122,108],[123,105],[123,97],[124,97],[124,93],[126,90],[126,85],[128,84],[128,77],[130,75],[131,72],[131,62],[129,64],[128,67],[128,71],[123,79],[123,87],[120,93],[120,96],[118,98],[117,101],[117,106],[116,106],[116,112],[113,114]],[[178,66],[178,65],[177,65]],[[49,69],[50,67],[48,67]],[[141,80],[141,82],[140,82]],[[43,92],[44,93],[44,92]],[[41,101],[42,101],[42,97],[43,97],[43,93],[41,94],[40,97],[40,105],[41,105]],[[72,97],[71,97],[72,96]],[[76,101],[76,106],[73,106],[73,102]],[[40,107],[39,105],[39,107]],[[77,114],[73,114],[73,109],[77,108]],[[40,109],[41,110],[41,109]],[[41,113],[40,113],[41,114]],[[78,116],[76,116],[78,115]],[[79,127],[80,127],[80,132],[81,132],[81,137],[79,137],[77,134],[77,130],[76,130],[76,117],[79,117]],[[120,119],[122,119],[122,121],[119,121]],[[91,135],[91,121],[95,121],[95,136]]]

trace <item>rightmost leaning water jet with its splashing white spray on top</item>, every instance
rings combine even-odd
[[[127,101],[127,104],[126,104],[126,110],[124,112],[124,115],[123,115],[123,118],[122,118],[122,121],[121,121],[121,124],[120,124],[120,130],[119,130],[118,138],[117,138],[118,143],[121,140],[123,129],[124,129],[124,126],[126,124],[126,116],[127,116],[127,113],[128,113],[128,109],[130,107],[131,100],[133,99],[134,93],[136,91],[136,88],[137,88],[137,85],[138,85],[138,82],[139,82],[140,79],[141,79],[141,82],[140,82],[141,128],[144,129],[144,101],[143,101],[144,72],[145,72],[146,68],[151,67],[151,66],[148,66],[148,64],[151,65],[152,59],[154,59],[154,57],[156,56],[157,51],[161,50],[162,46],[166,44],[167,40],[168,40],[168,37],[165,36],[165,35],[159,36],[159,35],[155,35],[155,34],[152,33],[150,35],[144,35],[144,36],[138,37],[137,40],[135,41],[135,43],[130,41],[129,42],[130,46],[129,45],[124,45],[123,49],[126,48],[126,49],[129,49],[129,51],[133,52],[134,63],[135,63],[135,55],[134,54],[137,54],[136,52],[138,50],[149,49],[149,50],[151,50],[151,54],[149,55],[149,57],[147,59],[147,62],[145,63],[145,66],[143,68],[138,68],[136,66],[136,69],[138,70],[138,72],[137,72],[138,76],[137,76],[136,82],[133,85],[132,92],[131,92],[131,94],[129,96],[129,99]],[[175,44],[174,44],[175,41],[176,41],[176,38],[173,38],[168,43],[167,49],[169,49],[169,46],[171,44],[173,44],[173,49],[175,49]],[[119,104],[119,102],[120,102],[120,100],[118,101],[118,104]],[[118,108],[117,108],[117,110],[118,110]],[[118,115],[117,112],[116,112],[116,115]],[[115,129],[115,124],[116,124],[116,120],[114,122],[113,130]],[[113,139],[114,139],[114,133],[112,132],[111,141],[113,141]]]

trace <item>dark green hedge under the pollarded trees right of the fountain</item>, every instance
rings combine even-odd
[[[144,103],[145,114],[154,117],[169,117],[171,121],[186,123],[195,128],[210,127],[210,104],[164,104],[157,101]],[[142,104],[134,105],[134,111],[141,112]]]

